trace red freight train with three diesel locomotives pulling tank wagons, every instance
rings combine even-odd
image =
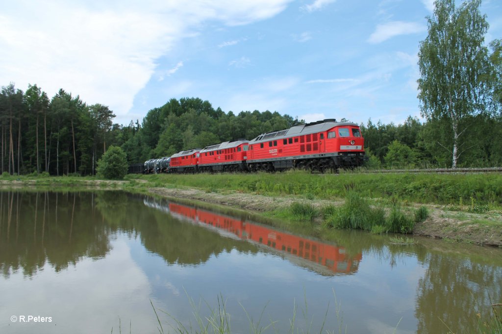
[[[143,164],[142,173],[273,172],[293,168],[324,172],[354,168],[365,160],[359,126],[324,119],[263,133],[252,140],[226,141],[150,159]],[[139,173],[140,168],[132,166],[130,173]]]

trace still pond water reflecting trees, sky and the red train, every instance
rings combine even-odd
[[[218,298],[232,333],[262,313],[267,332],[470,332],[501,301],[500,249],[329,239],[122,192],[0,192],[0,332],[155,333],[152,304],[164,332],[197,329]]]

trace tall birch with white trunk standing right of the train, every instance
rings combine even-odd
[[[454,0],[437,0],[427,17],[428,36],[420,43],[418,80],[420,109],[428,120],[445,119],[452,130],[449,142],[452,168],[463,151],[463,120],[486,110],[490,73],[484,35],[488,29],[481,15],[481,0],[468,0],[455,8]]]

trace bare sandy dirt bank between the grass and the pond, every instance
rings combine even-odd
[[[259,212],[287,207],[293,202],[307,202],[316,206],[343,203],[341,201],[308,201],[294,197],[269,197],[237,192],[208,193],[197,189],[150,188],[149,192],[160,196],[198,200]],[[463,211],[450,211],[443,206],[428,206],[428,209],[429,218],[415,226],[413,231],[415,235],[502,247],[502,213],[471,214]]]

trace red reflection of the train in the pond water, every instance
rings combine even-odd
[[[362,259],[361,253],[349,258],[343,247],[208,210],[153,198],[145,198],[144,203],[146,206],[169,213],[180,220],[216,229],[222,236],[265,245],[269,250],[278,251],[281,256],[288,258],[291,262],[309,267],[323,275],[355,273]]]

